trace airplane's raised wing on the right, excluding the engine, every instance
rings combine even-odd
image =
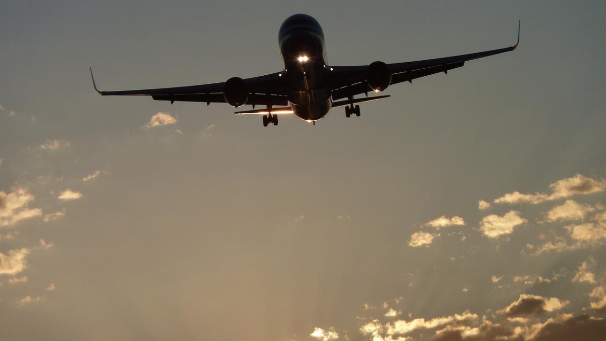
[[[439,72],[448,73],[448,70],[461,67],[466,61],[513,51],[516,49],[516,47],[518,47],[519,42],[520,22],[518,21],[518,41],[514,46],[476,53],[468,53],[467,55],[387,64],[391,72],[390,84],[398,84],[406,81],[412,83],[412,80],[416,78],[433,75],[434,73]],[[367,70],[367,65],[333,66],[331,85],[333,100],[348,98],[354,95],[359,95],[360,93],[368,93],[371,91],[370,87],[366,83]]]

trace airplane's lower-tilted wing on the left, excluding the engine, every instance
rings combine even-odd
[[[151,96],[153,100],[170,101],[170,103],[175,101],[206,102],[207,104],[226,102],[223,95],[225,82],[158,89],[100,91],[95,84],[92,69],[90,69],[90,76],[93,79],[95,90],[102,96]],[[268,106],[285,106],[288,104],[287,93],[285,93],[285,87],[282,85],[283,80],[279,72],[247,78],[244,79],[244,82],[250,93],[246,104]]]

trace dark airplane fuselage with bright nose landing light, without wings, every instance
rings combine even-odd
[[[320,120],[331,107],[322,27],[311,16],[290,16],[280,27],[278,43],[291,109],[303,120]]]

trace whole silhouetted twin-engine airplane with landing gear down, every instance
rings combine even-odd
[[[328,64],[322,27],[309,15],[295,14],[280,27],[278,44],[284,69],[264,76],[242,79],[232,77],[222,83],[202,84],[160,89],[99,91],[90,68],[93,87],[102,96],[151,96],[153,100],[228,103],[233,107],[244,104],[253,110],[236,111],[236,115],[263,115],[263,126],[278,125],[278,115],[292,114],[316,124],[333,107],[345,106],[345,116],[360,116],[358,103],[387,98],[390,95],[368,96],[368,92],[383,92],[388,86],[413,79],[448,73],[462,67],[465,61],[513,51],[514,46],[469,53],[467,55],[386,64],[382,61],[361,66]],[[355,98],[364,93],[365,97]],[[288,104],[290,103],[290,106]],[[256,109],[255,106],[265,106]]]

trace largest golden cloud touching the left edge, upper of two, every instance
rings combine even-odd
[[[10,226],[27,218],[41,216],[41,209],[29,208],[30,202],[34,199],[35,197],[22,187],[8,194],[0,192],[0,227]]]

